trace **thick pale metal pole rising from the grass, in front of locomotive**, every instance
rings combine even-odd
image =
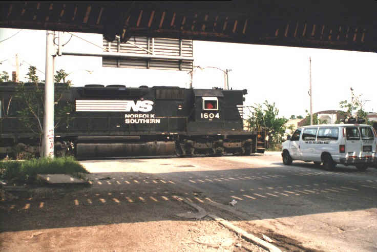
[[[46,32],[45,117],[43,156],[54,157],[54,32]]]

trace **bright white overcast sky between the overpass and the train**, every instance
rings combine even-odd
[[[0,41],[12,36],[19,29],[0,29]],[[102,46],[101,34],[74,33],[92,43]],[[65,33],[63,43],[70,34]],[[102,49],[75,36],[63,48],[71,52],[97,52]],[[311,57],[313,113],[338,110],[339,102],[350,100],[350,88],[361,94],[363,108],[377,112],[377,65],[376,53],[341,50],[308,49],[295,47],[246,45],[193,41],[194,66],[231,69],[229,88],[247,89],[244,105],[255,106],[274,103],[279,116],[305,116],[310,109],[309,57]],[[29,64],[38,70],[39,79],[45,79],[46,31],[22,30],[17,35],[0,42],[0,72],[7,71],[10,78],[15,71],[15,54],[18,54],[20,80],[25,78]],[[190,74],[187,71],[104,68],[100,57],[55,57],[55,71],[64,69],[73,86],[86,84],[127,87],[141,85],[178,86],[188,88]],[[90,70],[92,73],[82,70]],[[213,68],[194,71],[193,87],[211,89],[224,87],[224,74]],[[368,100],[368,101],[367,101]]]

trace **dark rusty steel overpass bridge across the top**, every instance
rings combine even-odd
[[[374,0],[3,1],[0,27],[377,51]]]

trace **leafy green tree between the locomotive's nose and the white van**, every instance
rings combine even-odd
[[[269,104],[266,100],[263,104],[256,104],[254,117],[248,119],[250,127],[258,131],[264,131],[268,136],[269,146],[275,147],[280,144],[285,134],[285,123],[288,119],[278,117],[279,110],[275,107],[275,102]]]

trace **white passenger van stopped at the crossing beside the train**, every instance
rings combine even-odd
[[[321,124],[298,128],[282,144],[283,163],[293,160],[323,163],[332,170],[338,163],[365,171],[377,163],[377,134],[367,124]]]

